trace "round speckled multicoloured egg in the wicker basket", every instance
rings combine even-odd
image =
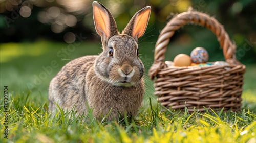
[[[209,59],[209,54],[203,47],[196,47],[190,53],[190,57],[193,63],[206,63]]]

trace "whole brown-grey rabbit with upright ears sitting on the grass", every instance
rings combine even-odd
[[[74,59],[61,68],[49,85],[49,110],[63,109],[98,120],[135,116],[144,94],[144,65],[139,59],[138,38],[147,27],[151,7],[139,10],[120,34],[110,11],[93,2],[93,20],[101,36],[102,53]],[[107,116],[108,115],[108,116]]]

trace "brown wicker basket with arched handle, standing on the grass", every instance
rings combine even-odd
[[[187,23],[205,26],[218,38],[223,54],[229,66],[167,66],[164,62],[169,38]],[[227,69],[228,68],[228,69]],[[245,65],[236,59],[236,45],[223,26],[213,17],[189,9],[175,16],[161,31],[155,45],[154,63],[149,75],[155,81],[155,95],[161,104],[172,109],[205,111],[224,108],[225,111],[239,111],[243,91]]]

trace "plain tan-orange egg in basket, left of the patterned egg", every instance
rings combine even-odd
[[[190,66],[191,59],[186,54],[179,54],[174,58],[174,66]]]

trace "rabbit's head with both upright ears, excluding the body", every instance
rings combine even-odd
[[[110,11],[93,2],[94,24],[103,48],[94,64],[98,77],[115,86],[135,86],[142,81],[144,66],[137,42],[146,30],[150,12],[150,6],[138,11],[120,34]]]

